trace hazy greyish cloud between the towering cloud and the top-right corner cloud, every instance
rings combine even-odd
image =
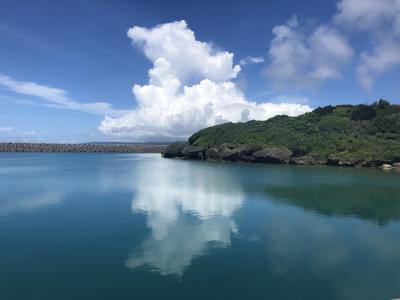
[[[347,40],[333,27],[305,32],[296,17],[275,26],[269,48],[269,80],[278,88],[309,89],[337,79],[353,56]]]

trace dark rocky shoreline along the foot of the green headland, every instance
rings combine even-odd
[[[301,155],[287,148],[235,147],[232,145],[195,146],[171,144],[162,153],[165,158],[193,160],[243,161],[270,164],[332,165],[339,167],[380,167],[385,170],[400,170],[399,161],[373,161],[349,159],[336,156],[320,157],[316,154]]]

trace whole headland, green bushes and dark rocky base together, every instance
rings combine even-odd
[[[226,123],[171,144],[166,158],[400,168],[400,105],[319,107],[297,116]]]

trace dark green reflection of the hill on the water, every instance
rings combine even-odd
[[[400,220],[399,185],[324,183],[267,186],[265,192],[274,200],[327,216],[352,216],[379,224]]]

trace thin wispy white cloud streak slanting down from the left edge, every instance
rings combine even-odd
[[[69,98],[67,92],[62,89],[34,82],[18,81],[2,74],[0,74],[0,87],[17,94],[37,97],[46,101],[45,105],[49,107],[79,110],[101,116],[120,116],[127,112],[114,109],[111,104],[106,102],[81,103]]]

